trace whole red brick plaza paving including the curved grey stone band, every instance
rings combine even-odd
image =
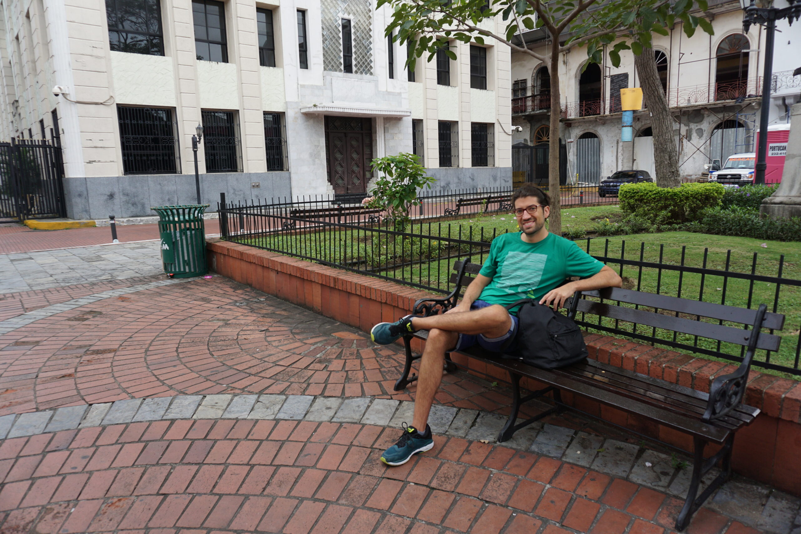
[[[463,372],[436,448],[386,469],[414,395],[392,390],[400,347],[222,277],[6,294],[0,332],[3,534],[666,534],[686,486],[570,415],[495,444],[508,391]],[[799,507],[735,480],[687,532],[797,534]]]

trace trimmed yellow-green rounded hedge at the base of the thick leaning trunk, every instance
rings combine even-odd
[[[624,214],[637,214],[651,224],[686,223],[706,208],[717,207],[726,188],[719,183],[682,183],[658,187],[655,183],[626,183],[618,196]]]

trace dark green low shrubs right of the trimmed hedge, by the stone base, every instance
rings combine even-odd
[[[685,224],[683,230],[704,234],[736,235],[775,241],[801,241],[801,218],[767,219],[751,207],[715,207],[703,212],[701,219]]]

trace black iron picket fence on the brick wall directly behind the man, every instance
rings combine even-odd
[[[387,222],[348,223],[344,218],[336,222],[334,217],[313,220],[290,216],[282,209],[268,211],[265,206],[224,202],[219,204],[219,221],[222,238],[228,241],[441,294],[453,290],[453,262],[469,259],[483,263],[489,243],[498,235],[477,225],[430,220],[413,221],[401,232],[394,231]],[[625,240],[618,239],[586,239],[581,245],[590,255],[618,271],[624,287],[740,307],[767,303],[771,311],[787,315],[786,327],[776,332],[783,336],[783,343],[778,352],[763,351],[754,364],[801,375],[801,279],[798,279],[801,277],[796,274],[798,268],[785,262],[783,256],[777,262],[754,254],[747,262],[750,267],[743,267],[743,258],[733,258],[731,251],[701,252],[646,243],[632,248]],[[788,269],[795,278],[787,277]],[[739,346],[729,347],[726,343],[636,323],[596,318],[590,321],[583,317],[578,322],[590,330],[679,351],[712,357],[723,355],[731,361],[742,358]]]

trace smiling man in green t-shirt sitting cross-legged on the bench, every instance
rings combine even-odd
[[[502,351],[517,333],[517,317],[505,306],[529,298],[559,309],[575,291],[621,287],[622,280],[610,267],[573,241],[549,233],[545,228],[549,204],[548,194],[539,187],[514,191],[512,205],[521,231],[493,239],[480,274],[456,307],[442,315],[406,315],[395,323],[372,327],[370,336],[381,345],[418,330],[429,331],[417,379],[413,424],[406,426],[400,440],[381,456],[384,464],[405,464],[416,452],[433,447],[427,421],[442,382],[445,352],[476,344],[488,351]],[[582,279],[560,285],[570,276]],[[418,428],[425,431],[418,432]]]

